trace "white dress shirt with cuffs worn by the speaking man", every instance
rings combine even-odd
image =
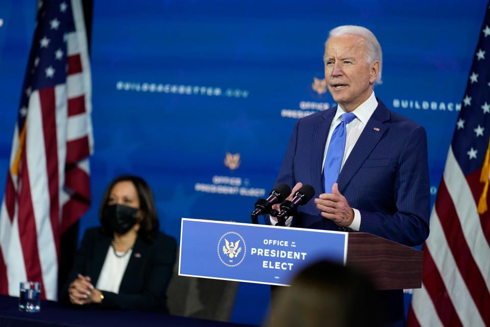
[[[344,150],[344,158],[342,158],[342,164],[340,165],[340,171],[342,171],[342,168],[344,167],[344,164],[347,158],[349,157],[349,154],[351,153],[352,149],[356,145],[356,142],[359,139],[359,136],[361,136],[361,133],[364,130],[367,121],[369,121],[371,115],[374,113],[374,110],[376,110],[377,106],[378,106],[378,101],[376,100],[376,96],[374,95],[374,91],[373,91],[371,96],[366,101],[364,101],[359,107],[357,107],[356,109],[354,109],[354,111],[352,111],[356,115],[356,118],[347,125],[346,148]],[[323,154],[322,171],[320,172],[320,174],[323,174],[323,166],[325,165],[325,157],[327,156],[327,150],[330,144],[330,139],[332,138],[332,134],[333,131],[335,130],[335,127],[337,127],[341,122],[340,115],[342,115],[342,113],[346,113],[346,111],[344,110],[344,108],[342,108],[342,106],[338,105],[337,112],[335,113],[335,116],[332,119],[332,125],[330,126],[330,130],[328,131],[327,143],[325,144],[325,152]],[[331,190],[325,190],[325,192],[330,193]],[[349,227],[354,230],[359,230],[361,226],[361,213],[359,212],[358,209],[355,208],[352,209],[354,210],[354,220],[352,221]],[[291,221],[292,221],[292,217],[289,217],[286,220],[286,226],[290,226]],[[271,217],[271,224],[272,225],[277,224],[277,221],[275,221],[272,217]]]

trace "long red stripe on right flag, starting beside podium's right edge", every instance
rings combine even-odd
[[[444,285],[443,279],[440,278],[439,271],[432,260],[429,249],[424,249],[424,254],[426,259],[424,262],[424,271],[426,271],[426,274],[422,282],[427,294],[432,300],[431,307],[435,309],[437,317],[443,325],[448,326],[452,324],[454,326],[461,326],[461,320],[459,320],[453,303],[449,298],[446,286]]]

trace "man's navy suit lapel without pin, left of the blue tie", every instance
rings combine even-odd
[[[317,126],[315,126],[313,129],[312,137],[313,140],[316,140],[316,142],[313,143],[313,162],[311,164],[312,167],[310,171],[311,181],[313,185],[321,185],[322,190],[325,188],[322,172],[323,156],[325,154],[327,136],[330,131],[330,127],[332,126],[332,119],[334,118],[336,112],[337,106],[325,110],[324,114],[322,114],[323,119],[317,120],[315,123],[317,124]],[[316,193],[316,195],[318,196],[321,193],[325,193],[325,190],[323,190],[323,192]]]

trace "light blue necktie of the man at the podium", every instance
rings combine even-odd
[[[340,116],[342,121],[335,127],[330,145],[328,146],[327,156],[325,157],[325,165],[323,167],[323,176],[325,180],[325,193],[332,192],[332,185],[337,182],[340,166],[344,158],[346,149],[347,124],[352,122],[356,115],[352,112],[342,113]]]

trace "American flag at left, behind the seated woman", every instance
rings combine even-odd
[[[38,1],[0,212],[0,293],[57,299],[60,236],[90,204],[90,65],[81,0]]]

